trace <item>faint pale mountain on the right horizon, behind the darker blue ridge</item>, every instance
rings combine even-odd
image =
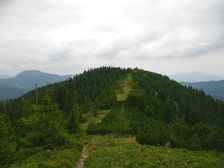
[[[205,81],[217,81],[224,79],[219,76],[206,75],[198,71],[185,74],[170,75],[170,78],[178,82],[205,82]]]

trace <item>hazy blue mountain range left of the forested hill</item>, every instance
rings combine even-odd
[[[6,78],[4,78],[6,77]],[[37,70],[27,70],[14,77],[0,76],[0,100],[8,100],[19,97],[24,93],[47,84],[64,81],[71,75],[60,76]]]

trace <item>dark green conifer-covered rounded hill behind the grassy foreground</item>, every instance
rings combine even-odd
[[[0,166],[44,151],[80,151],[88,134],[132,135],[141,144],[224,150],[224,104],[166,76],[101,67],[0,105]]]

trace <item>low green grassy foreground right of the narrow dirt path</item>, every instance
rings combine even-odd
[[[145,146],[133,137],[93,136],[85,168],[223,168],[224,154]]]

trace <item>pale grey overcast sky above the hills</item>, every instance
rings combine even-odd
[[[224,76],[224,1],[0,0],[0,74],[103,65]]]

